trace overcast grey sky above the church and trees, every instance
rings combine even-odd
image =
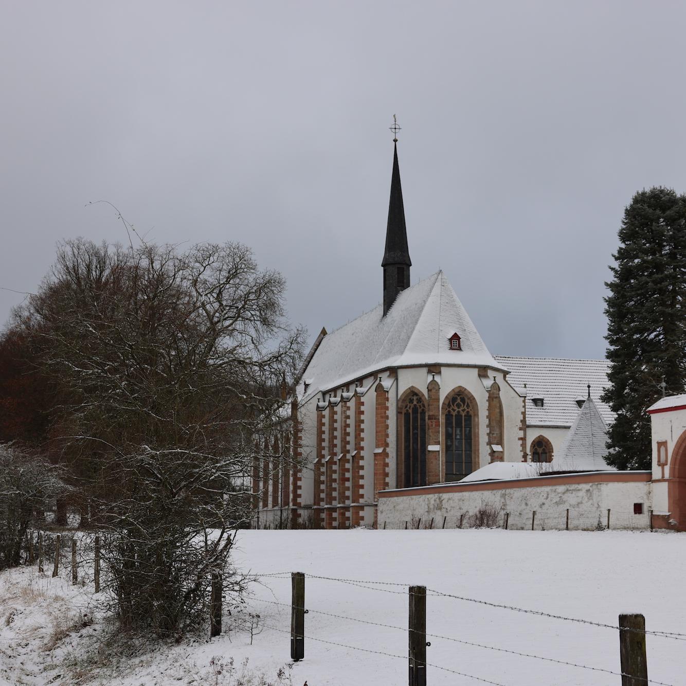
[[[0,286],[63,237],[238,240],[329,331],[381,299],[392,134],[412,281],[494,354],[602,357],[624,206],[686,191],[686,3],[0,5]],[[0,291],[0,319],[22,296]]]

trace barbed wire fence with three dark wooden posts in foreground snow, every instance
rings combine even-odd
[[[499,681],[493,681],[486,678],[482,674],[469,674],[464,671],[456,670],[451,665],[438,665],[430,663],[426,659],[426,648],[431,646],[428,639],[436,639],[442,641],[449,641],[451,643],[458,643],[463,646],[470,646],[480,650],[489,650],[499,654],[505,654],[517,658],[526,658],[545,663],[554,663],[564,667],[573,668],[575,670],[585,670],[587,672],[595,672],[597,674],[607,674],[617,678],[617,683],[622,683],[622,686],[642,686],[643,684],[655,684],[657,686],[676,686],[673,683],[665,681],[657,681],[648,678],[648,667],[646,659],[646,636],[655,637],[656,639],[666,639],[669,641],[686,641],[686,633],[663,631],[663,630],[646,630],[645,619],[643,615],[619,615],[617,624],[607,624],[604,622],[595,622],[591,619],[584,619],[580,617],[567,617],[564,615],[556,615],[539,611],[533,608],[518,607],[506,604],[499,604],[477,598],[468,598],[462,595],[453,593],[445,593],[436,589],[427,589],[426,587],[408,586],[397,582],[386,582],[379,580],[366,579],[351,579],[338,578],[331,576],[319,576],[316,574],[307,574],[308,579],[321,580],[324,582],[334,582],[338,584],[346,584],[348,586],[368,589],[378,593],[391,593],[393,595],[404,595],[409,599],[410,613],[408,615],[407,627],[397,626],[394,624],[387,624],[384,622],[373,622],[370,619],[362,619],[354,614],[348,613],[346,615],[329,612],[324,608],[316,608],[305,603],[305,574],[298,572],[274,572],[268,574],[256,574],[255,578],[281,578],[287,579],[290,576],[292,579],[292,599],[291,602],[283,602],[282,600],[267,600],[264,598],[254,598],[255,602],[259,602],[266,606],[276,606],[278,608],[290,608],[291,610],[291,628],[287,630],[283,627],[273,626],[273,624],[263,624],[265,628],[269,628],[276,632],[287,634],[290,637],[291,657],[294,660],[304,659],[305,657],[305,641],[315,641],[316,643],[324,643],[329,646],[337,646],[344,650],[359,651],[368,654],[378,654],[383,657],[392,659],[401,659],[407,661],[410,665],[409,670],[409,685],[410,686],[425,686],[427,684],[427,668],[438,670],[449,674],[456,674],[463,678],[479,682],[493,684],[495,686],[507,686]],[[402,589],[402,590],[401,590]],[[573,624],[582,624],[585,626],[592,626],[595,628],[602,628],[606,630],[613,630],[619,632],[620,639],[620,663],[621,671],[610,670],[606,667],[599,667],[597,665],[587,665],[579,661],[571,659],[558,659],[555,657],[548,657],[545,654],[536,654],[534,652],[523,652],[514,650],[504,646],[488,645],[479,641],[470,641],[464,637],[447,636],[437,633],[432,633],[426,629],[426,609],[425,600],[429,597],[445,598],[446,600],[456,600],[461,602],[470,602],[488,606],[490,608],[497,608],[502,611],[525,613],[536,617],[544,617],[558,622],[571,622]],[[416,605],[419,603],[422,607],[420,612],[416,612]],[[414,608],[414,613],[413,613]],[[305,634],[305,614],[312,613],[314,615],[321,615],[322,617],[329,617],[331,619],[338,619],[341,622],[355,622],[357,624],[364,624],[366,626],[376,626],[379,628],[397,630],[399,632],[406,632],[409,637],[410,651],[408,655],[401,655],[397,653],[387,652],[384,650],[371,650],[370,648],[362,648],[360,646],[353,646],[340,641],[332,639],[323,639],[308,633]],[[414,615],[414,616],[413,616]],[[418,620],[418,621],[417,621]],[[271,620],[274,621],[274,618]],[[413,654],[412,646],[421,646],[423,650],[419,654]],[[413,670],[414,667],[414,670]],[[619,681],[621,679],[621,682]]]

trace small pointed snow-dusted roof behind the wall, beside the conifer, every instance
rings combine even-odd
[[[553,469],[592,471],[614,469],[605,462],[607,425],[593,399],[588,398],[579,410],[558,454]]]

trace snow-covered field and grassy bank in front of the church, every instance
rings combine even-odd
[[[137,646],[130,654],[102,643],[106,627],[93,605],[91,589],[88,584],[68,584],[67,570],[65,579],[56,580],[39,575],[35,568],[2,573],[0,683],[261,683],[239,681],[237,672],[242,667],[237,665],[248,658],[247,671],[263,672],[263,683],[398,686],[407,683],[406,586],[410,584],[615,626],[619,613],[643,613],[649,631],[682,634],[674,638],[648,635],[650,679],[686,683],[686,534],[251,531],[239,534],[235,562],[244,571],[287,573],[265,576],[262,584],[252,586],[246,612],[259,613],[262,627],[252,645],[250,633],[236,629],[211,641],[182,641],[162,650]],[[308,575],[305,635],[320,641],[306,638],[305,659],[289,669],[290,571]],[[284,605],[274,604],[278,602]],[[225,616],[224,624],[231,623]],[[619,672],[617,630],[432,595],[431,591],[427,633]],[[430,685],[480,683],[454,672],[506,686],[621,683],[619,676],[607,672],[436,636],[427,640],[431,641],[427,662],[453,670],[428,667]],[[230,658],[233,671],[226,668]],[[104,666],[93,669],[99,661]],[[286,676],[279,681],[276,674],[284,666]]]

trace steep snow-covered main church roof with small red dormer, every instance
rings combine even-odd
[[[451,350],[458,333],[462,350]],[[298,397],[309,398],[389,367],[444,364],[502,369],[462,307],[442,271],[399,293],[383,316],[383,305],[325,335],[303,376],[311,381]]]

